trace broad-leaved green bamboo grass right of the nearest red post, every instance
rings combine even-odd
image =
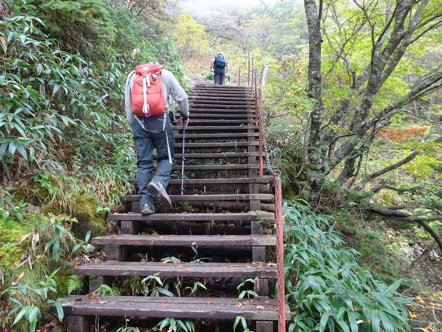
[[[409,331],[401,280],[380,283],[356,262],[331,216],[304,201],[285,201],[286,298],[294,313],[289,331]]]

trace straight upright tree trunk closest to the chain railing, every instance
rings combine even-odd
[[[304,0],[305,14],[308,25],[308,91],[309,98],[314,100],[311,112],[310,131],[308,138],[308,170],[307,183],[303,193],[311,201],[319,199],[325,179],[322,155],[322,125],[324,109],[322,105],[322,77],[321,77],[321,15],[322,0],[319,8],[315,0]]]

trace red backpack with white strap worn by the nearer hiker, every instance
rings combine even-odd
[[[140,64],[135,67],[132,86],[132,113],[138,117],[161,115],[166,110],[164,101],[161,67],[155,63]]]

